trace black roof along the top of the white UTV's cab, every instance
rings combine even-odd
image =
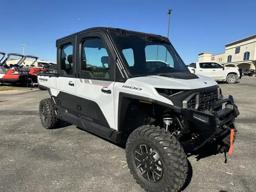
[[[84,32],[87,32],[87,31],[95,31],[95,30],[103,30],[103,31],[120,31],[120,30],[124,30],[125,33],[131,33],[131,34],[136,34],[136,35],[142,35],[142,36],[156,36],[156,37],[159,37],[158,35],[156,34],[149,34],[149,33],[143,33],[143,32],[139,32],[139,31],[130,31],[130,30],[126,30],[126,29],[120,29],[120,28],[112,28],[112,27],[93,27],[93,28],[88,28],[88,29],[84,29],[83,31],[79,31],[77,33],[73,33],[71,35],[68,35],[68,36],[65,36],[65,37],[62,37],[60,39],[57,39],[56,40],[56,45],[57,45],[57,42],[59,41],[62,41],[62,40],[65,40],[65,39],[68,39],[69,37],[73,37],[73,36],[76,36],[76,35],[79,35],[81,33],[84,33]],[[163,36],[164,38],[167,38],[165,36]]]

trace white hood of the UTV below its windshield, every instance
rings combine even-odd
[[[195,74],[193,74],[195,75]],[[146,76],[146,77],[134,77],[128,79],[126,83],[141,85],[149,84],[155,88],[169,88],[169,89],[201,89],[217,85],[217,82],[212,78],[197,75],[198,78],[194,79],[178,79],[167,76]],[[139,84],[136,82],[140,82]]]

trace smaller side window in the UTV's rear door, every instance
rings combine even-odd
[[[73,75],[73,45],[68,44],[61,48],[60,70],[65,70],[68,75]]]

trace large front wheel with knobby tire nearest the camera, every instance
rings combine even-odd
[[[126,143],[126,161],[133,178],[149,192],[177,192],[184,184],[188,162],[180,143],[159,126],[135,129]]]

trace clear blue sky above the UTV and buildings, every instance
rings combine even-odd
[[[172,9],[169,38],[188,64],[255,34],[255,7],[255,0],[1,0],[0,51],[22,54],[26,44],[25,54],[56,61],[56,39],[96,26],[167,36]]]

